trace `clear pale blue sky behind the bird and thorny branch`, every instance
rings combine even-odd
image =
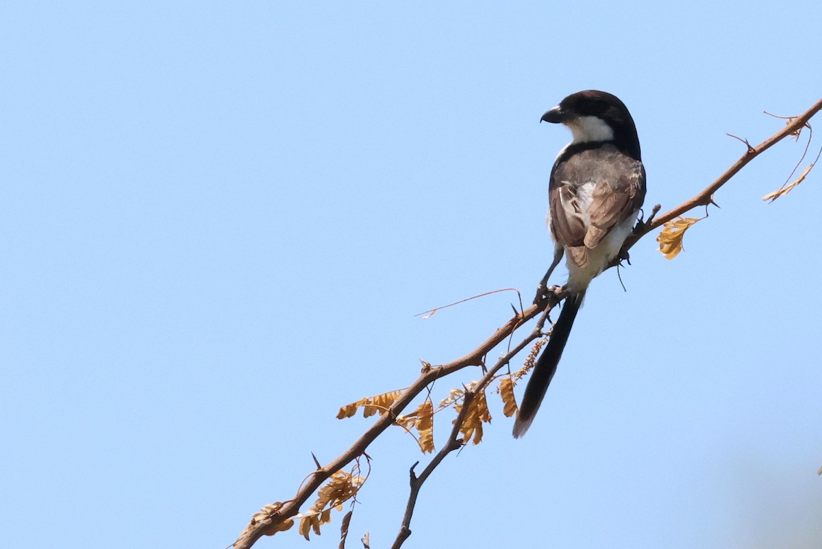
[[[620,96],[667,210],[744,152],[726,132],[762,141],[763,110],[820,98],[819,21],[810,1],[4,3],[3,545],[229,545],[370,424],[340,405],[462,356],[515,298],[414,314],[532,295],[569,140],[547,108]],[[593,284],[528,436],[492,399],[406,547],[820,547],[820,173],[760,200],[803,146],[719,191],[676,260],[645,238],[627,292]],[[399,429],[369,454],[349,547],[390,545],[421,458]]]

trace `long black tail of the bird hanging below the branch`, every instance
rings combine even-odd
[[[517,413],[514,422],[514,438],[520,438],[528,431],[534,416],[537,415],[539,405],[543,404],[545,391],[548,390],[548,385],[556,373],[556,365],[559,364],[562,350],[568,343],[571,326],[574,325],[576,313],[582,307],[584,297],[584,291],[570,295],[562,306],[560,317],[551,332],[551,339],[548,339],[543,354],[537,359],[537,364],[531,372],[531,379],[525,387],[520,413]]]

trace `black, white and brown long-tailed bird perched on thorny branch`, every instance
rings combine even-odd
[[[568,282],[560,316],[538,358],[514,422],[524,436],[556,372],[568,335],[591,281],[620,255],[645,198],[640,138],[628,108],[616,95],[584,90],[562,99],[540,122],[560,123],[573,139],[556,156],[548,184],[552,265],[539,288],[566,256]]]

